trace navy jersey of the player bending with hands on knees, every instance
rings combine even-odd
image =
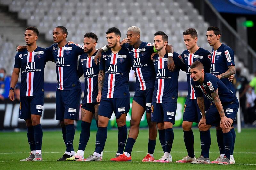
[[[191,84],[195,90],[196,97],[202,97],[204,94],[212,103],[214,103],[214,100],[212,99],[211,93],[215,92],[217,89],[222,104],[231,103],[236,99],[235,94],[228,89],[220,79],[210,73],[204,73],[202,85],[200,85],[198,81],[193,81],[193,79],[191,79]]]

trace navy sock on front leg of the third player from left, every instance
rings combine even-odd
[[[82,121],[78,150],[82,150],[82,151],[85,150],[87,142],[89,141],[89,138],[90,138],[90,126],[91,126],[91,123]]]

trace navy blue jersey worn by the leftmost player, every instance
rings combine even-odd
[[[51,52],[41,47],[17,52],[14,68],[21,69],[20,96],[44,95],[44,67],[49,60],[53,60]]]

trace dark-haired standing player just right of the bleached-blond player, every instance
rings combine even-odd
[[[165,49],[168,36],[162,31],[158,31],[154,35],[154,45],[158,54],[153,57],[156,81],[152,97],[151,117],[153,122],[157,122],[158,128],[163,127],[164,124],[165,129],[164,156],[159,160],[154,160],[154,162],[168,163],[172,162],[170,152],[174,139],[172,126],[175,124],[179,71],[180,69],[185,70],[185,64],[182,58],[178,57],[179,54],[174,52],[173,60],[176,67],[174,72],[169,71],[167,67],[168,55]]]

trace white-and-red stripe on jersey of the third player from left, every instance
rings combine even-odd
[[[93,62],[93,56],[91,56],[90,58],[87,57],[86,69],[92,67],[92,62]],[[87,79],[87,103],[92,103],[92,100],[93,100],[92,93],[93,93],[93,78],[91,77]]]

